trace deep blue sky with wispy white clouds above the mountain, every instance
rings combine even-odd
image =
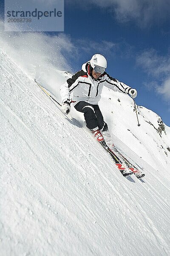
[[[62,38],[72,73],[94,53],[105,55],[106,71],[170,126],[169,24],[169,0],[65,0],[65,31],[47,34]]]

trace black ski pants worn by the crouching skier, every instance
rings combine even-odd
[[[87,128],[94,129],[98,126],[99,130],[101,130],[105,125],[102,112],[100,111],[98,105],[92,105],[90,103],[81,101],[78,102],[74,108],[77,111],[84,113]]]

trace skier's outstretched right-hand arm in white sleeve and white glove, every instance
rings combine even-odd
[[[117,79],[109,76],[107,73],[105,75],[106,75],[106,80],[105,80],[105,86],[106,87],[108,87],[108,88],[110,88],[111,90],[114,90],[114,91],[119,91],[121,93],[127,93],[132,98],[135,98],[137,96],[136,89],[132,89],[127,84],[124,84],[123,82],[118,81]]]

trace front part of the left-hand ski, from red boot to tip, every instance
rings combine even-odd
[[[111,148],[108,147],[108,145],[105,143],[105,140],[102,140],[100,142],[100,144],[102,145],[103,148],[105,148],[105,150],[107,151],[107,153],[111,156],[113,162],[115,163],[115,165],[117,166],[117,168],[119,169],[119,171],[122,173],[122,175],[124,177],[128,177],[131,174],[133,174],[133,171],[131,169],[127,169],[123,166],[122,161],[119,159],[119,157],[117,157],[117,155],[111,150]]]

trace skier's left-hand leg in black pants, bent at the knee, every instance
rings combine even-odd
[[[95,128],[96,128],[95,130],[98,129],[96,114],[95,114],[93,105],[82,101],[82,102],[78,102],[74,106],[74,108],[77,111],[84,113],[87,128],[89,128],[90,130]]]

